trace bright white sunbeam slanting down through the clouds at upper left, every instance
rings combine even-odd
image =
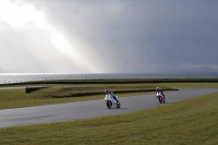
[[[70,43],[70,40],[55,26],[49,24],[45,19],[44,13],[37,11],[34,5],[26,3],[20,4],[19,1],[16,1],[15,4],[10,1],[1,1],[0,19],[15,29],[33,31],[34,26],[34,28],[44,32],[48,38],[50,37],[47,41],[53,44],[52,49],[56,49],[60,55],[66,57],[73,62],[73,64],[81,67],[87,72],[96,71],[95,68],[83,57],[80,49],[73,46],[72,43]],[[34,35],[36,35],[36,33]],[[31,48],[32,47],[28,49]]]

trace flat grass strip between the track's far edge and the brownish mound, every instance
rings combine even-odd
[[[150,93],[129,93],[118,94],[119,97],[140,96]],[[22,89],[0,90],[0,109],[21,108],[31,106],[55,105],[63,102],[76,102],[95,99],[104,99],[104,95],[93,95],[83,97],[51,98],[36,95],[27,95]]]

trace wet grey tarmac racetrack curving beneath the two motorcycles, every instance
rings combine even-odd
[[[167,98],[167,104],[165,105],[218,92],[218,89],[210,88],[182,89],[184,90],[165,93]],[[102,96],[101,100],[0,110],[0,128],[41,124],[49,122],[63,122],[71,120],[89,119],[95,117],[114,116],[162,106],[158,102],[158,99],[155,97],[155,94],[153,94],[119,98],[121,102],[121,108],[108,109],[106,107],[104,97],[105,96]]]

